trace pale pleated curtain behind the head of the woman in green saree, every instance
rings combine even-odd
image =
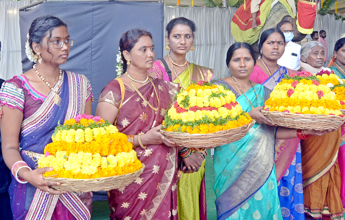
[[[225,59],[229,47],[235,43],[230,33],[230,22],[236,10],[237,8],[165,6],[164,22],[167,25],[171,19],[178,17],[194,21],[197,26],[195,50],[188,52],[186,58],[191,63],[214,69],[213,79],[221,79],[229,74]],[[167,54],[165,51],[165,55]]]

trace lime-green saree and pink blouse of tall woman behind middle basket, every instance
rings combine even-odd
[[[191,80],[198,82],[205,80],[210,82],[213,77],[213,69],[191,63]],[[167,70],[160,60],[154,62],[154,66],[148,70],[152,78],[160,78],[171,81]],[[180,81],[172,74],[173,83],[179,85]],[[189,86],[189,70],[183,71],[179,76],[183,87]],[[181,86],[180,86],[181,87]],[[198,172],[182,173],[178,181],[178,213],[183,220],[206,220],[206,188],[205,188],[205,160]]]

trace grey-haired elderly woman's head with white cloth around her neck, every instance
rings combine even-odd
[[[300,71],[308,71],[312,74],[324,69],[325,49],[318,41],[309,41],[301,48],[301,61],[299,62]]]

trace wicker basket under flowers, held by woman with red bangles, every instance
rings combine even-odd
[[[345,122],[345,117],[337,115],[294,114],[265,110],[261,112],[274,124],[295,129],[333,130],[339,128]]]

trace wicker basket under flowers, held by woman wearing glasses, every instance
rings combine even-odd
[[[89,192],[89,191],[107,191],[112,189],[125,188],[137,179],[145,164],[141,163],[142,168],[132,173],[123,175],[109,176],[95,179],[68,179],[68,178],[43,178],[45,180],[60,182],[61,185],[50,186],[53,189],[69,192]]]

